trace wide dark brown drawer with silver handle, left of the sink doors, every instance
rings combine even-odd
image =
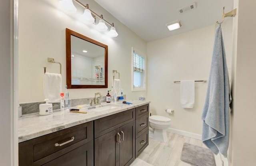
[[[45,136],[33,139],[34,161],[44,158],[68,146],[82,141],[93,140],[93,122],[66,128]]]

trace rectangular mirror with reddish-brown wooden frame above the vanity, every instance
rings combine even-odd
[[[68,88],[108,87],[108,46],[66,29]]]

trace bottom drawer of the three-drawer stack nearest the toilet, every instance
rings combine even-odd
[[[146,132],[136,139],[136,157],[148,146],[148,136],[148,130],[146,130]]]

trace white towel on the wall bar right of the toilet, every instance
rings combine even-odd
[[[195,101],[195,81],[180,81],[180,103],[182,108],[193,108]]]

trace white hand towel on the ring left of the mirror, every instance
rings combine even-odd
[[[60,103],[61,74],[44,74],[44,99],[49,99],[48,103]]]

